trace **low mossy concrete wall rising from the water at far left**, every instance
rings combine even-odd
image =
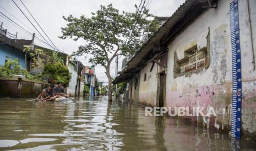
[[[37,97],[48,83],[18,78],[0,78],[0,97]]]

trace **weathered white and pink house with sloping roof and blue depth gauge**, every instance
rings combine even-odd
[[[129,100],[146,106],[213,107],[222,114],[184,118],[255,140],[255,5],[187,0],[113,84],[129,83]]]

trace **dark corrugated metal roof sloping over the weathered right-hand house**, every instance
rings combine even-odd
[[[123,69],[122,73],[116,77],[113,84],[124,82],[128,80],[132,75],[130,73],[138,72],[140,69],[136,69],[140,65],[141,59],[149,53],[151,48],[159,42],[159,40],[165,36],[171,28],[181,20],[184,15],[194,6],[196,2],[208,3],[208,0],[187,0],[172,14],[172,16],[159,28],[159,30],[150,37],[150,39],[141,47],[137,54],[127,63],[127,66]]]

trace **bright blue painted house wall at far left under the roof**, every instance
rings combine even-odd
[[[21,50],[9,46],[8,44],[0,44],[0,65],[4,65],[6,57],[10,57],[12,60],[18,58],[20,66],[26,68],[25,53],[23,53]]]

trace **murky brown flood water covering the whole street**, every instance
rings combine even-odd
[[[107,97],[73,102],[0,98],[0,150],[254,150],[169,117],[146,117],[145,108]]]

